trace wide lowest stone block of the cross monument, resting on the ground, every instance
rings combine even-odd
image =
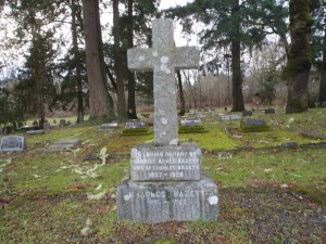
[[[218,193],[214,181],[125,181],[117,188],[120,220],[159,223],[165,221],[217,221]]]

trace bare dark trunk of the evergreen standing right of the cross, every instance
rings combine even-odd
[[[239,15],[239,0],[233,10],[233,14]],[[240,21],[237,20],[231,37],[231,70],[233,70],[233,112],[244,111],[242,94],[242,74],[241,74],[241,44],[240,44]]]

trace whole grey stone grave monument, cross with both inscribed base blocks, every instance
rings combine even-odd
[[[172,20],[154,20],[152,38],[152,48],[128,50],[128,67],[154,73],[154,144],[131,150],[131,178],[117,188],[118,218],[216,221],[217,187],[201,172],[201,150],[178,145],[175,70],[197,68],[199,51],[175,47]]]

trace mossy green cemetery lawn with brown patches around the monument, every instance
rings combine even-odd
[[[118,221],[115,191],[130,150],[153,133],[122,137],[123,128],[98,132],[100,124],[85,123],[0,153],[0,243],[326,243],[326,110],[254,114],[271,130],[247,133],[203,114],[208,132],[180,141],[203,149],[203,171],[220,191],[217,223]],[[67,138],[80,147],[43,153]]]

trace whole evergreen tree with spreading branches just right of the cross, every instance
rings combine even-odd
[[[262,25],[263,1],[205,1],[196,0],[186,7],[167,10],[170,16],[181,20],[184,29],[191,30],[198,20],[206,25],[201,33],[203,51],[221,52],[222,48],[230,50],[233,80],[233,111],[243,111],[241,52],[261,43],[265,37]],[[217,64],[216,64],[217,65]],[[213,65],[216,67],[216,65]]]

